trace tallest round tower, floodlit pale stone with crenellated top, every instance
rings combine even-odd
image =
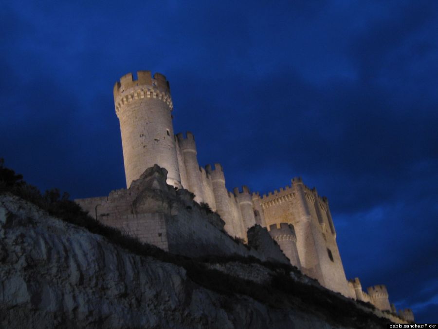
[[[162,74],[131,73],[114,84],[114,106],[120,121],[126,185],[154,164],[164,167],[167,184],[181,187],[178,157],[173,135],[172,98]]]

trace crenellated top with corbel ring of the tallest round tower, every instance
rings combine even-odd
[[[113,94],[117,117],[125,104],[144,98],[160,99],[167,104],[170,111],[173,110],[169,82],[160,73],[155,73],[152,78],[150,71],[138,71],[136,80],[132,73],[128,73],[114,84]]]

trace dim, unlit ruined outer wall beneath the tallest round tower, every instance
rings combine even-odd
[[[158,166],[147,169],[129,189],[75,202],[103,224],[172,253],[284,259],[278,246],[269,246],[266,256],[232,239],[217,213],[201,207],[189,191],[167,185],[166,171]]]

